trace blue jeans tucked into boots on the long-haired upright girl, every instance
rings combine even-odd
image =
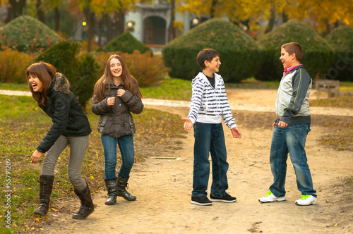
[[[121,153],[121,166],[119,176],[129,178],[130,171],[135,161],[135,150],[133,147],[133,135],[123,137],[111,137],[109,135],[100,135],[102,139],[105,159],[105,180],[116,178],[116,144],[119,144]]]

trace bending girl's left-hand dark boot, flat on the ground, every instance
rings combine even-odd
[[[49,210],[50,195],[53,190],[54,176],[40,175],[40,205],[34,213],[46,216]]]

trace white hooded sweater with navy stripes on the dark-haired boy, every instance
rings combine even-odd
[[[228,128],[237,127],[225,92],[223,78],[215,73],[215,88],[203,73],[192,80],[193,94],[188,118],[192,123],[222,123]]]

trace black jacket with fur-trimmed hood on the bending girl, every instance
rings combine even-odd
[[[52,128],[44,136],[37,150],[47,152],[60,135],[85,136],[92,132],[90,122],[70,92],[70,83],[61,73],[56,73],[55,80],[49,87],[43,111],[53,120]]]

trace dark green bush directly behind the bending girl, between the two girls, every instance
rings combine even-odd
[[[51,63],[58,72],[70,81],[71,92],[85,109],[85,104],[93,95],[93,87],[98,80],[100,66],[90,54],[79,55],[78,42],[62,41],[38,56],[37,61]]]

